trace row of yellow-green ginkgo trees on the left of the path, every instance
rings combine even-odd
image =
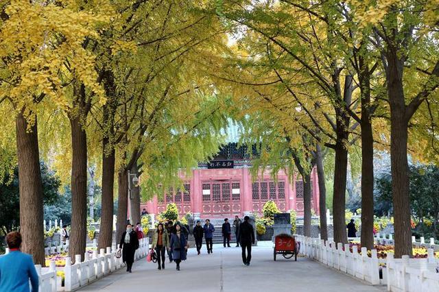
[[[200,13],[205,5],[1,3],[0,175],[18,164],[23,251],[37,264],[45,263],[41,158],[71,185],[74,258],[86,247],[88,163],[102,173],[99,247],[106,247],[115,177],[120,235],[128,171],[141,175],[144,196],[160,194],[178,184],[180,169],[217,150],[227,99],[218,98],[204,72],[219,62],[226,41],[219,20]],[[131,193],[132,217],[140,221],[139,188]]]

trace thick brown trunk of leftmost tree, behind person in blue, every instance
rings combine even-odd
[[[38,128],[27,132],[27,121],[20,112],[15,119],[16,149],[19,162],[21,250],[32,254],[36,265],[45,266],[43,231],[43,180],[38,151]]]

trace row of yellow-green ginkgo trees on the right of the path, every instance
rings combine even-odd
[[[346,243],[346,173],[357,151],[361,245],[372,248],[374,149],[390,149],[395,255],[412,254],[407,149],[414,158],[438,158],[436,7],[428,0],[219,1],[215,12],[236,41],[218,77],[235,88],[240,119],[252,125],[247,142],[260,145],[259,165],[295,165],[302,175],[305,235],[309,171],[317,165],[322,175],[319,161],[329,151],[334,240]]]

